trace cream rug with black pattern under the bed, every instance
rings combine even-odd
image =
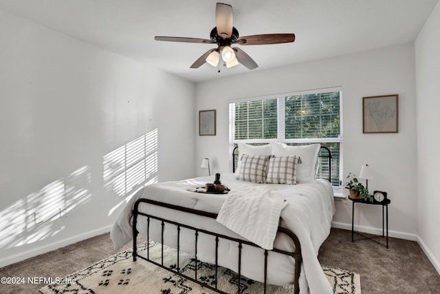
[[[149,243],[149,257],[152,260],[160,260],[162,246],[154,242]],[[147,243],[138,246],[138,252],[146,251]],[[146,255],[146,253],[142,253]],[[175,249],[164,246],[164,265],[176,267],[177,253]],[[181,271],[194,277],[195,260],[186,253],[179,254]],[[360,294],[360,276],[356,273],[344,271],[332,266],[322,266],[334,293]],[[238,275],[228,269],[219,268],[218,288],[226,293],[237,293]],[[204,262],[197,262],[197,278],[214,286],[214,266]],[[140,258],[133,262],[131,249],[96,262],[91,266],[66,277],[69,284],[50,284],[40,289],[41,293],[148,293],[148,294],[195,294],[214,293],[208,288],[203,288],[175,275],[165,269],[155,266]],[[263,293],[263,284],[241,277],[241,289],[239,294]],[[293,293],[293,289],[280,286],[268,286],[267,293]]]

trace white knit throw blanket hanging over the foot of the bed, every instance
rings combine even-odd
[[[267,185],[233,189],[221,206],[217,222],[261,248],[274,249],[284,198]]]

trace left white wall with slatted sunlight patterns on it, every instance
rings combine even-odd
[[[194,83],[1,10],[0,39],[0,266],[109,231],[136,138],[149,181],[194,176]]]

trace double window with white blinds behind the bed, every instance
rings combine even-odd
[[[340,89],[250,98],[230,103],[230,149],[238,142],[329,147],[332,185],[340,186]]]

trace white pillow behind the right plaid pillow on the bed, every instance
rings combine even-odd
[[[301,164],[296,167],[296,182],[310,182],[316,177],[316,163],[320,144],[287,146],[283,143],[272,143],[272,154],[275,156],[299,156]]]

